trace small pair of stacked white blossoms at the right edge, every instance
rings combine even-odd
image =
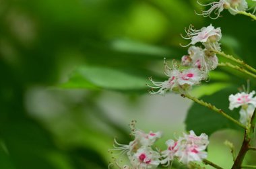
[[[236,93],[236,95],[230,95],[228,98],[230,101],[230,110],[241,107],[241,110],[239,111],[239,121],[244,125],[248,125],[250,123],[256,107],[256,97],[253,97],[253,95],[255,95],[255,91],[252,91],[251,93]]]

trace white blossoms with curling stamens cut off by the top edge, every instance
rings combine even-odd
[[[253,0],[255,1],[255,0]],[[224,9],[228,9],[228,11],[232,15],[236,15],[239,11],[246,11],[248,8],[247,1],[245,0],[220,0],[220,1],[214,1],[212,3],[208,4],[201,4],[198,0],[197,3],[202,6],[210,6],[210,9],[207,11],[203,11],[202,13],[197,13],[198,15],[203,15],[204,17],[210,17],[212,19],[217,19],[220,17],[220,13]],[[216,15],[215,17],[212,17],[212,13]]]

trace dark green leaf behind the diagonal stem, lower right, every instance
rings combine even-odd
[[[237,92],[236,88],[228,88],[213,95],[201,97],[201,99],[215,105],[218,109],[222,109],[225,113],[238,120],[239,109],[234,109],[232,112],[228,109],[228,96]],[[221,129],[240,129],[232,121],[197,103],[193,103],[190,107],[185,119],[185,125],[187,131],[193,130],[197,134],[206,133],[207,135],[211,135]]]

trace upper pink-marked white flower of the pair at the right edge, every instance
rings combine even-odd
[[[234,108],[241,107],[243,105],[253,105],[256,107],[256,97],[253,97],[255,95],[255,91],[252,91],[251,93],[236,93],[236,95],[230,95],[228,97],[229,103],[229,109],[233,110]]]

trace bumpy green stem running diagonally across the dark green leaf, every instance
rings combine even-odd
[[[242,127],[243,129],[247,129],[245,127],[245,125],[241,124],[239,121],[237,121],[236,119],[233,119],[232,117],[230,117],[229,115],[227,115],[226,113],[224,113],[224,111],[222,111],[222,109],[218,109],[216,108],[214,105],[211,105],[210,103],[206,103],[202,100],[197,99],[196,97],[192,97],[189,94],[182,94],[182,97],[187,97],[188,99],[191,99],[192,101],[195,101],[195,103],[198,103],[200,105],[203,105],[204,107],[207,107],[209,109],[212,109],[213,111],[216,111],[217,113],[219,113],[220,115],[226,117],[227,119],[229,119],[230,121],[233,121],[234,123],[236,123],[237,125],[239,125],[240,127]]]

